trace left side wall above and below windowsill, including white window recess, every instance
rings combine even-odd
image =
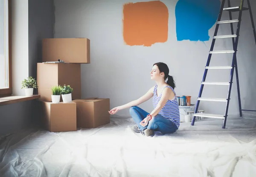
[[[20,81],[30,75],[36,78],[36,63],[41,62],[42,38],[53,37],[54,6],[53,0],[28,0],[27,3],[13,0],[13,3],[14,94],[24,95]],[[20,57],[23,51],[19,49],[24,48],[28,52]],[[36,100],[0,106],[0,135],[40,126],[38,108]]]

